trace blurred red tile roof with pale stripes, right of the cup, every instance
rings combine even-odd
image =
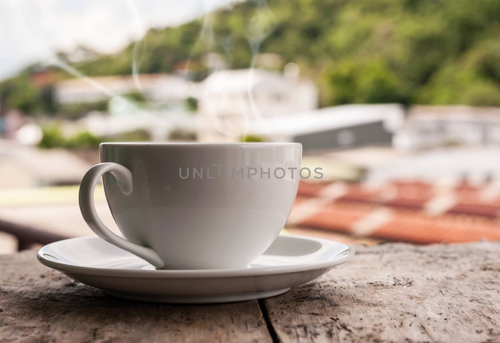
[[[443,190],[411,181],[375,189],[333,185],[300,182],[290,223],[414,243],[500,239],[500,194],[485,199],[482,187],[461,184]],[[438,210],[429,211],[432,206]]]

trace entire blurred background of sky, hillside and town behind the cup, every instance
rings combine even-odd
[[[0,253],[92,234],[77,192],[102,141],[297,141],[324,177],[288,233],[499,239],[499,18],[495,0],[1,1]]]

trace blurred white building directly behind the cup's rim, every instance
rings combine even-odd
[[[238,140],[249,122],[317,107],[318,93],[310,80],[262,69],[220,70],[198,89],[198,112],[204,141]]]

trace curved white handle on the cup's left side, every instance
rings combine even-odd
[[[138,245],[121,238],[108,229],[99,219],[95,211],[93,193],[97,181],[105,172],[110,172],[114,176],[118,182],[118,186],[125,195],[130,195],[133,189],[132,173],[121,164],[114,162],[98,163],[88,169],[81,180],[78,194],[81,215],[88,227],[108,243],[139,256],[155,267],[161,268],[165,266],[165,263],[161,260],[156,251],[150,247]]]

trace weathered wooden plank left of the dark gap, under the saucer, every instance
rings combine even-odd
[[[0,256],[0,342],[272,341],[256,300],[168,305],[115,298],[51,270],[34,251]]]

